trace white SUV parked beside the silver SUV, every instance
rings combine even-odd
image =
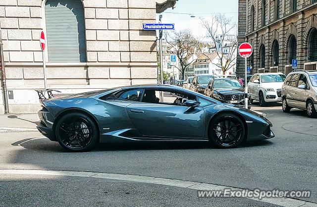
[[[281,102],[285,78],[283,73],[254,74],[248,83],[251,102],[258,100],[261,106],[265,106],[267,102]]]

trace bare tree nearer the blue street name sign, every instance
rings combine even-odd
[[[185,71],[195,60],[190,57],[196,52],[198,40],[189,30],[180,30],[165,33],[165,40],[178,57],[180,65],[175,67],[182,73],[182,79],[185,78]]]

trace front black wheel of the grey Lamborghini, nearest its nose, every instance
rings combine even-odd
[[[209,126],[209,141],[213,147],[235,148],[245,138],[243,121],[231,113],[223,113],[212,118]]]

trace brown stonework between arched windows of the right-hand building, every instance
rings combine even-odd
[[[275,15],[275,1],[266,0],[266,22],[262,27],[261,9],[262,0],[248,0],[247,2],[247,27],[245,34],[240,37],[240,42],[247,41],[251,43],[254,49],[254,65],[255,69],[260,67],[260,47],[263,44],[265,46],[265,70],[269,70],[273,66],[272,51],[273,41],[277,41],[279,44],[279,64],[278,71],[285,72],[285,65],[291,64],[289,62],[288,43],[291,35],[295,35],[297,40],[297,59],[298,68],[304,69],[304,63],[308,61],[307,48],[309,32],[312,28],[317,27],[317,18],[315,11],[317,9],[317,3],[311,4],[311,0],[297,0],[297,11],[291,12],[290,0],[280,1],[280,16]],[[244,2],[244,0],[239,0]],[[251,31],[251,6],[255,7],[255,31]],[[314,13],[315,12],[315,13]],[[245,28],[243,21],[240,17],[243,15],[239,13],[239,28]],[[250,59],[248,61],[250,64]],[[237,62],[237,73],[243,74],[244,63]]]

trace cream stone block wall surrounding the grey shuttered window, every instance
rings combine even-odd
[[[87,62],[47,62],[48,86],[64,94],[123,85],[157,83],[155,0],[82,0]],[[33,89],[44,87],[40,32],[45,28],[43,0],[0,0],[10,112],[34,112]],[[48,58],[47,58],[48,59]],[[26,108],[25,108],[26,107]]]

